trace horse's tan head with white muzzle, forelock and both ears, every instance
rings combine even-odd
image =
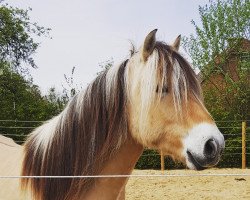
[[[190,64],[151,31],[127,63],[129,129],[145,147],[161,150],[191,169],[218,163],[224,137],[204,106]]]

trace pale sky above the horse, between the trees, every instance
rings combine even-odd
[[[32,8],[30,17],[51,28],[52,39],[41,38],[32,70],[35,84],[45,93],[61,90],[64,74],[76,67],[75,80],[85,87],[100,71],[99,63],[127,58],[129,41],[139,47],[151,30],[171,43],[179,35],[194,33],[198,6],[208,0],[5,0],[12,6]],[[183,52],[183,51],[182,51]],[[183,52],[184,53],[184,52]]]

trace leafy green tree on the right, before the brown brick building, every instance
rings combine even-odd
[[[199,14],[201,25],[192,21],[195,34],[184,37],[184,47],[200,70],[206,107],[215,120],[227,121],[218,126],[235,127],[220,128],[228,147],[220,165],[238,167],[241,125],[237,120],[250,118],[250,1],[209,1],[199,7]]]

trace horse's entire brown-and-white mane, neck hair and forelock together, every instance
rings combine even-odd
[[[149,58],[149,61],[154,59],[149,62],[151,71],[157,71],[153,73],[155,75],[161,72],[160,89],[170,80],[177,110],[187,99],[187,91],[199,99],[201,93],[196,75],[178,52],[163,42],[156,42],[153,54]],[[128,62],[126,60],[104,71],[85,91],[76,95],[61,114],[31,133],[24,144],[23,176],[100,174],[101,167],[126,141],[129,132],[127,104],[131,91],[126,67]],[[155,64],[156,67],[153,66]],[[150,71],[148,75],[152,76]],[[174,78],[170,79],[172,76]],[[155,81],[150,87],[147,84],[141,84],[141,91],[145,87],[148,93],[152,93],[151,96],[155,95],[158,83]],[[144,97],[142,102],[152,101]],[[143,123],[143,120],[140,121]],[[95,180],[27,178],[21,180],[21,186],[24,190],[29,188],[32,197],[37,200],[68,200],[79,199],[93,186]]]

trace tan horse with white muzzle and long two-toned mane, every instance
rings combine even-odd
[[[145,147],[194,170],[218,163],[224,137],[204,106],[194,70],[178,52],[181,36],[168,45],[156,40],[156,32],[23,146],[1,147],[8,155],[0,157],[2,176],[82,177],[0,179],[1,199],[125,199],[128,177],[109,175],[131,174]]]

